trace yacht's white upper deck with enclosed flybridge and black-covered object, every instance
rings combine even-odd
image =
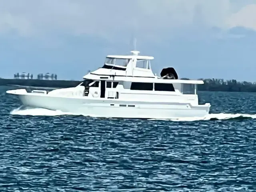
[[[164,68],[161,77],[154,75],[151,69],[150,60],[152,56],[140,56],[140,52],[133,50],[132,55],[108,55],[104,66],[95,70],[83,78],[100,80],[129,82],[159,82],[159,83],[182,83],[182,84],[203,84],[200,80],[178,80],[178,74],[174,68]],[[143,79],[142,79],[143,78]]]

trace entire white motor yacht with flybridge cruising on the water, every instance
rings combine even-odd
[[[24,106],[95,117],[177,119],[209,113],[210,103],[198,104],[202,80],[180,80],[172,67],[156,76],[150,64],[154,57],[131,52],[107,56],[101,68],[73,88],[7,93],[18,95]]]

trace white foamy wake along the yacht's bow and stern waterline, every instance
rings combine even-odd
[[[29,107],[19,107],[10,112],[12,115],[30,115],[30,116],[62,116],[62,115],[73,115],[78,116],[80,114],[73,114],[68,112],[62,112],[62,111],[53,111],[43,108],[29,108]],[[180,119],[150,119],[150,120],[168,120],[168,121],[198,121],[198,120],[228,120],[228,119],[234,119],[234,118],[256,118],[256,114],[226,114],[226,113],[214,113],[214,114],[208,114],[205,117],[202,118],[180,118]]]

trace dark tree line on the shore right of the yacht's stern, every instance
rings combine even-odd
[[[188,78],[183,78],[187,79]],[[228,92],[256,92],[256,82],[239,82],[235,79],[199,79],[203,80],[204,84],[198,85],[199,91],[228,91]]]

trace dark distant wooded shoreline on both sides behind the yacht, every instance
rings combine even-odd
[[[187,79],[187,78],[182,78]],[[188,79],[187,79],[188,80]],[[198,91],[223,91],[223,92],[256,92],[256,83],[238,82],[236,80],[223,79],[199,79],[204,84],[198,85]],[[0,86],[16,85],[30,87],[68,88],[77,86],[81,81],[75,80],[38,80],[38,79],[3,79],[0,78]]]

